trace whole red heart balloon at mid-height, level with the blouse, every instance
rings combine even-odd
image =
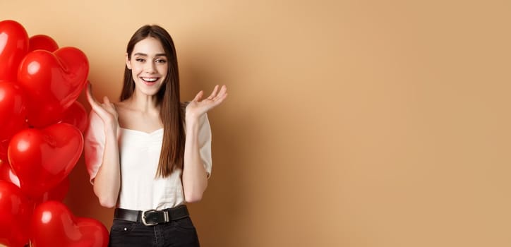
[[[20,179],[21,190],[38,198],[68,176],[82,150],[80,130],[68,123],[56,123],[14,135],[7,156]]]

